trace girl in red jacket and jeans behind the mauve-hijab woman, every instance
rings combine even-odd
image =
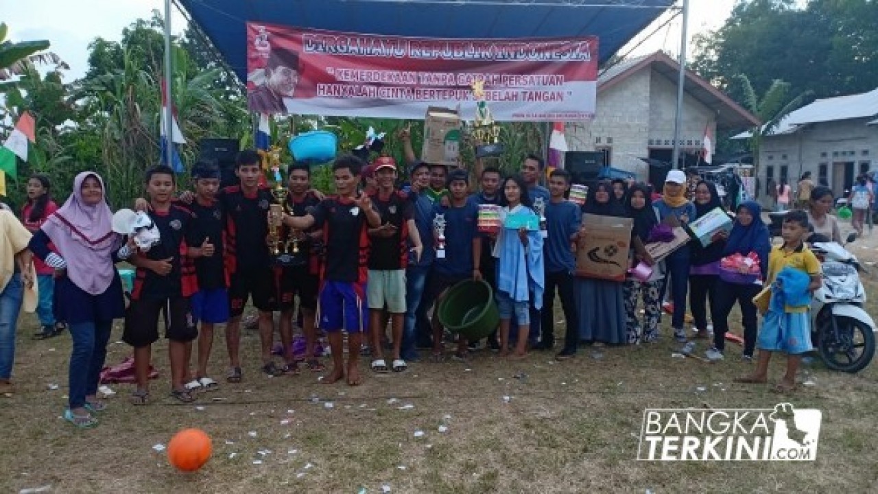
[[[21,209],[21,222],[31,233],[37,233],[49,216],[58,210],[49,193],[52,184],[42,173],[34,173],[27,181],[27,202]],[[49,246],[52,249],[54,246]],[[64,331],[64,324],[55,321],[53,310],[54,269],[47,266],[40,258],[33,259],[33,267],[37,270],[37,284],[40,288],[40,300],[37,302],[37,316],[40,318],[40,332],[33,335],[34,339],[46,339],[58,336]]]

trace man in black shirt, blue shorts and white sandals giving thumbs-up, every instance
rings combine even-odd
[[[212,391],[217,389],[217,381],[207,376],[207,360],[210,359],[213,345],[213,324],[228,321],[228,291],[226,269],[223,265],[223,229],[225,218],[216,194],[219,191],[219,168],[213,163],[198,162],[192,168],[192,182],[195,185],[195,200],[189,205],[198,221],[198,228],[205,238],[214,245],[212,256],[195,260],[198,275],[198,292],[192,295],[192,318],[201,323],[198,331],[198,367],[195,379],[184,381],[191,389]],[[188,369],[187,369],[188,371]]]

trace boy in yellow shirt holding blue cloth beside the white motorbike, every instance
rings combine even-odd
[[[803,241],[809,232],[808,216],[791,211],[783,221],[783,245],[768,257],[767,282],[772,287],[771,307],[759,333],[759,365],[738,382],[766,382],[768,362],[773,352],[787,353],[787,373],[774,388],[784,393],[795,389],[795,374],[802,353],[810,352],[810,294],[820,287],[820,263]],[[802,281],[807,276],[807,281]],[[806,288],[807,287],[807,288]]]

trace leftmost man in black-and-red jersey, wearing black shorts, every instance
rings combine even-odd
[[[137,389],[132,402],[148,403],[149,361],[152,344],[159,338],[159,313],[163,311],[165,337],[169,339],[171,396],[190,403],[194,397],[184,385],[184,374],[189,367],[192,340],[198,337],[189,308],[189,297],[198,290],[192,258],[210,257],[214,248],[200,234],[191,211],[171,202],[176,187],[173,170],[163,165],[151,168],[146,182],[152,206],[149,217],[161,240],[131,258],[137,272],[122,340],[134,347]]]

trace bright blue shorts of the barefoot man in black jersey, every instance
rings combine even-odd
[[[318,327],[327,332],[363,333],[368,329],[366,287],[349,281],[326,281],[320,287]]]

